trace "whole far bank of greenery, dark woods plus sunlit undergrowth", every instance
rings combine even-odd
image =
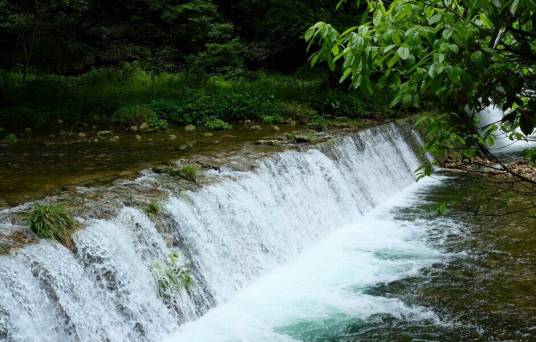
[[[379,96],[338,90],[322,68],[307,75],[307,27],[353,19],[353,4],[336,4],[0,0],[0,127],[227,129],[381,109]]]

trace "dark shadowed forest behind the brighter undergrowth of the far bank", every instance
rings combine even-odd
[[[336,12],[335,4],[0,0],[0,67],[73,74],[136,60],[153,71],[291,71],[305,61],[301,36],[312,22],[349,22],[351,12]]]

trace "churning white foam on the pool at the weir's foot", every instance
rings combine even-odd
[[[434,183],[412,186],[336,230],[165,341],[294,341],[292,330],[303,328],[293,326],[322,324],[331,318],[366,319],[377,313],[437,321],[424,308],[363,293],[368,286],[416,274],[445,258],[423,242],[429,223],[396,221],[390,213],[393,207],[415,204],[415,191]]]

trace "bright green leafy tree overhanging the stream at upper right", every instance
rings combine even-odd
[[[341,82],[390,95],[392,107],[439,109],[441,115],[420,121],[430,135],[428,151],[491,155],[486,143],[498,129],[530,139],[536,126],[535,0],[357,3],[357,26],[339,32],[318,22],[307,30],[309,48],[319,45],[313,65],[324,61],[341,70]],[[490,104],[507,115],[479,134],[474,114]]]

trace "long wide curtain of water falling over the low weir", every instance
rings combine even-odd
[[[420,160],[408,126],[222,171],[221,181],[170,193],[158,226],[125,206],[86,220],[74,252],[41,241],[1,256],[0,339],[162,340],[414,184]],[[171,253],[192,284],[164,298],[152,272]]]

